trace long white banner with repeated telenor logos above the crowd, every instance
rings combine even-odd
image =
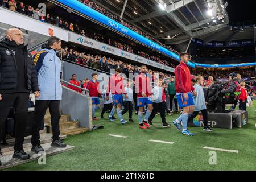
[[[90,47],[97,49],[99,51],[108,52],[116,56],[125,57],[126,59],[137,61],[142,64],[147,64],[152,67],[160,68],[165,71],[174,72],[174,68],[168,67],[166,65],[157,63],[156,61],[152,61],[149,59],[146,59],[144,57],[134,55],[133,53],[123,51],[117,47],[109,46],[108,44],[98,42],[97,40],[93,40],[90,38],[87,38],[85,36],[81,36],[79,34],[75,34],[73,32],[69,32],[69,40],[70,42],[81,44],[82,46]]]

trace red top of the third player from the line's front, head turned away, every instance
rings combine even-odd
[[[115,75],[110,76],[108,92],[106,93],[106,96],[109,96],[110,90],[111,90],[112,96],[127,94],[125,87],[123,86],[123,77],[121,77],[121,75],[115,74]]]

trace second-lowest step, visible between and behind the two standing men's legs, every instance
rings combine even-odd
[[[43,133],[40,134],[40,142],[41,144],[44,143],[49,143],[52,142],[52,134],[51,133]],[[65,139],[67,138],[66,135],[60,135],[60,139]],[[9,143],[9,145],[7,146],[1,146],[1,152],[6,153],[6,152],[14,152],[14,143],[15,143],[15,138],[11,138],[11,139],[7,139],[7,143]],[[31,136],[25,137],[24,142],[23,142],[23,148],[31,148],[32,144],[31,144]]]

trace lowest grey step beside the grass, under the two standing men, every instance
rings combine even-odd
[[[73,148],[75,148],[73,146],[68,146],[68,145],[65,148],[51,147],[51,143],[42,144],[42,147],[44,148],[44,151],[46,152],[45,153],[46,164],[47,164],[48,156],[60,154],[62,152],[69,151],[69,150],[72,150]],[[38,160],[41,157],[40,155],[32,152],[30,147],[24,148],[24,151],[30,155],[30,159],[28,159],[28,160],[14,159],[14,158],[12,158],[13,154],[7,154],[7,153],[3,153],[3,156],[0,155],[0,160],[2,162],[2,166],[0,166],[0,170],[6,169],[9,167],[13,167],[13,166],[18,166],[20,164],[28,163],[28,162],[31,162],[34,160]],[[41,161],[41,160],[39,160],[39,161]]]

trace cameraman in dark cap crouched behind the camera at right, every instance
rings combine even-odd
[[[225,104],[236,104],[241,94],[241,86],[237,79],[237,73],[231,73],[229,75],[229,81],[227,89],[218,93],[219,96],[225,96],[222,100],[223,111],[225,110]]]

